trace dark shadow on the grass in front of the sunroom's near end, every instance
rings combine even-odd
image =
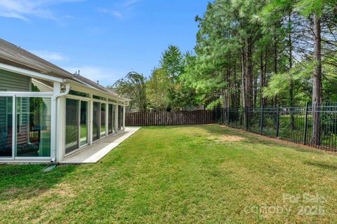
[[[34,197],[61,183],[76,169],[76,166],[58,166],[51,172],[42,172],[44,167],[46,165],[0,165],[0,201]]]

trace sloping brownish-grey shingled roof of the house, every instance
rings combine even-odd
[[[69,71],[65,71],[59,66],[56,66],[51,62],[47,62],[45,59],[42,59],[41,57],[38,57],[37,55],[20,48],[20,46],[9,43],[8,41],[5,41],[1,38],[0,63],[16,66],[21,69],[27,69],[29,71],[44,73],[48,76],[53,76],[56,78],[72,80],[81,85],[86,85],[87,87],[106,92],[107,94],[121,97],[110,89],[103,87],[102,85],[99,85],[98,83],[95,83],[84,76],[79,76],[77,74],[72,74]]]

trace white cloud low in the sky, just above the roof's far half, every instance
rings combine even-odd
[[[98,66],[79,66],[68,67],[65,70],[70,73],[80,71],[80,75],[84,76],[94,82],[99,81],[100,85],[107,86],[113,85],[116,80],[125,76],[125,72],[117,69],[103,68]]]

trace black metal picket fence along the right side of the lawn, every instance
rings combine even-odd
[[[319,117],[318,132],[312,130],[312,117]],[[268,137],[337,151],[337,103],[312,106],[218,109],[216,122]]]

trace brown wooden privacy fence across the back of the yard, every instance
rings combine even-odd
[[[126,126],[204,125],[214,122],[213,111],[159,111],[126,113]]]

